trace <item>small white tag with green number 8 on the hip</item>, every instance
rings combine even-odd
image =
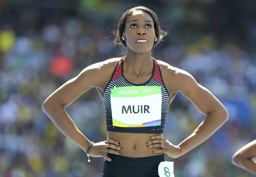
[[[159,177],[174,177],[173,163],[173,161],[162,161],[158,165]]]

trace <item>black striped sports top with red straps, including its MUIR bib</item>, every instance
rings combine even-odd
[[[103,93],[107,131],[162,134],[169,111],[169,92],[153,59],[153,72],[143,84],[133,84],[123,75],[122,57]]]

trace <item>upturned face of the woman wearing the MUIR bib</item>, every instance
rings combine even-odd
[[[155,36],[153,18],[146,12],[135,11],[127,18],[123,37],[127,47],[135,53],[149,52]]]

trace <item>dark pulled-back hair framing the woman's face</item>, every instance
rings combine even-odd
[[[125,30],[125,23],[128,16],[131,15],[134,11],[146,12],[153,18],[155,34],[157,37],[157,41],[154,41],[153,47],[157,46],[163,40],[163,37],[167,35],[167,33],[160,28],[159,20],[155,12],[153,12],[152,10],[144,6],[131,8],[121,16],[118,22],[117,31],[115,32],[115,39],[114,39],[115,45],[124,45],[125,47],[127,47],[125,41],[122,39],[122,34],[123,34],[123,31]]]

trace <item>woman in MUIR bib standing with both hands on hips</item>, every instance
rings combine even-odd
[[[185,154],[228,120],[221,102],[189,73],[151,57],[152,47],[165,34],[152,10],[143,6],[127,10],[115,37],[116,44],[127,48],[127,55],[86,67],[42,105],[57,128],[88,157],[105,159],[103,177],[158,177],[164,154],[173,158]],[[107,140],[98,143],[88,140],[65,111],[93,87],[103,99],[106,114]],[[163,137],[163,131],[169,104],[177,92],[206,118],[189,137],[173,145]]]

